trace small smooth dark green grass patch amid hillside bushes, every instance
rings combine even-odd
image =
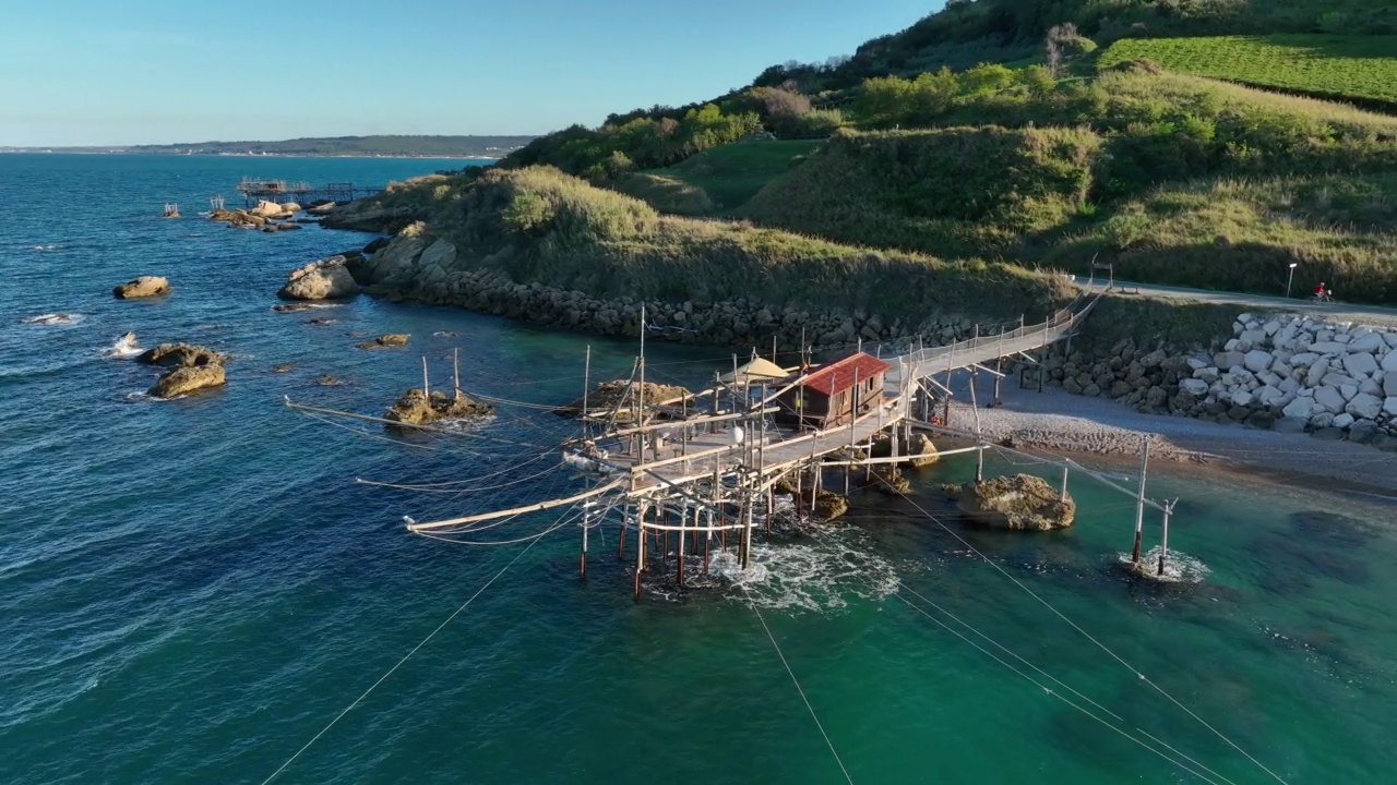
[[[820,141],[747,141],[715,147],[654,172],[630,175],[610,187],[675,215],[731,214],[767,183],[785,175]]]

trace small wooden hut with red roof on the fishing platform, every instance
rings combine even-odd
[[[883,374],[893,366],[859,352],[809,370],[805,381],[777,399],[777,422],[833,427],[869,409],[883,394]],[[792,377],[792,381],[798,377]]]

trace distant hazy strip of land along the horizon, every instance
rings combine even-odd
[[[145,154],[265,154],[384,158],[502,158],[535,137],[429,137],[376,135],[296,138],[285,141],[201,141],[189,144],[145,144],[117,152]],[[103,148],[105,149],[105,148]]]

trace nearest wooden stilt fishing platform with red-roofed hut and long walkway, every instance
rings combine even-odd
[[[735,360],[732,373],[726,377],[715,373],[710,388],[666,401],[647,399],[643,330],[640,358],[626,390],[609,405],[587,401],[588,352],[578,412],[581,434],[564,443],[563,458],[592,474],[597,478],[592,487],[507,510],[425,522],[408,518],[408,529],[433,536],[469,534],[488,521],[571,507],[581,510],[583,575],[590,531],[610,522],[617,531],[617,556],[624,559],[627,548],[633,549],[637,598],[657,553],[665,564],[673,560],[680,587],[686,570],[708,571],[715,548],[728,552],[735,545],[736,566],[745,570],[752,559],[753,531],[771,529],[778,487],[782,494],[793,492],[796,514],[813,513],[826,501],[823,469],[844,468],[845,487],[859,468],[866,480],[873,480],[875,472],[888,472],[916,458],[911,453],[914,432],[968,437],[968,447],[940,450],[937,455],[975,453],[977,479],[983,479],[985,451],[997,447],[979,434],[978,377],[992,377],[997,399],[1006,376],[1002,363],[1039,362],[1035,353],[1069,341],[1104,292],[1105,288],[1088,288],[1071,306],[1041,324],[1020,320],[1013,330],[983,335],[977,328],[965,341],[894,356],[858,352],[823,366],[802,363],[784,369],[781,376],[768,370],[752,373],[736,367]],[[770,369],[771,363],[763,367]],[[971,374],[970,404],[977,418],[972,433],[946,427],[951,376],[958,372]],[[887,440],[890,454],[873,457],[875,440]],[[1067,464],[1063,462],[1063,494]],[[1147,504],[1165,510],[1144,497],[1143,483],[1137,496],[1137,520],[1143,520]]]

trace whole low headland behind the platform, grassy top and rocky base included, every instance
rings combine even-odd
[[[740,222],[662,217],[549,168],[432,176],[327,217],[395,232],[351,274],[370,293],[599,334],[840,345],[950,339],[1037,320],[1059,278],[1002,263],[875,251]]]

